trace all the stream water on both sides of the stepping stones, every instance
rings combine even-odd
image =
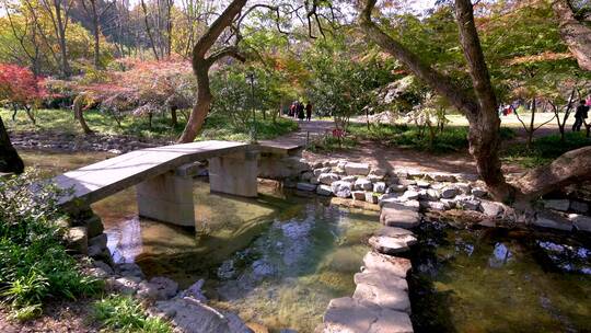
[[[45,174],[105,158],[24,153]],[[197,230],[139,219],[128,190],[93,206],[118,262],[183,287],[206,280],[216,307],[271,332],[312,332],[334,297],[350,295],[354,273],[379,225],[375,215],[259,186],[257,199],[210,194],[196,182]],[[471,230],[429,223],[410,257],[417,332],[591,332],[589,238]]]

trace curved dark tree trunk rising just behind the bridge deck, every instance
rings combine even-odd
[[[246,0],[233,0],[225,8],[223,13],[211,23],[209,28],[199,41],[197,41],[193,48],[192,64],[193,72],[197,78],[197,101],[193,107],[187,125],[178,139],[179,142],[194,141],[209,113],[209,107],[211,106],[211,101],[213,99],[209,88],[209,68],[211,65],[225,56],[232,56],[240,60],[244,60],[244,58],[239,55],[235,47],[227,47],[209,57],[206,57],[206,54],[222,32],[232,24],[245,4]]]

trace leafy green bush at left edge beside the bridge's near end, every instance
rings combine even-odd
[[[76,299],[101,289],[79,272],[60,242],[60,192],[24,174],[0,182],[0,298],[18,319],[40,313],[49,298]]]

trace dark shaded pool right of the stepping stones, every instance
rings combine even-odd
[[[591,332],[588,237],[433,223],[419,240],[416,332]]]

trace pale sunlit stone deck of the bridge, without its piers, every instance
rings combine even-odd
[[[80,198],[92,204],[183,164],[245,151],[243,142],[202,141],[147,148],[66,172],[53,179],[58,187],[73,188],[61,204]]]

